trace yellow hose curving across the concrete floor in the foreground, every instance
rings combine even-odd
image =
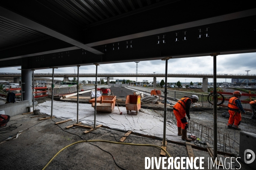
[[[78,144],[78,143],[80,143],[80,142],[96,142],[96,141],[100,141],[100,142],[109,142],[109,143],[113,143],[113,144],[128,144],[128,143],[120,143],[120,142],[104,141],[104,140],[77,141],[77,142],[75,142],[75,143],[73,143],[73,144]],[[44,167],[42,170],[44,170],[44,169],[50,164],[50,162],[51,162],[62,150],[65,150],[67,147],[70,147],[70,146],[73,145],[73,144],[70,144],[70,145],[68,145],[68,146],[66,146],[66,147],[64,147],[64,148],[62,148],[58,153],[56,153],[55,156],[53,156],[53,158],[51,158],[51,160],[45,165],[45,167]],[[158,147],[158,148],[162,149],[163,151],[165,151],[165,153],[167,153],[167,155],[168,155],[169,157],[171,157],[170,154],[169,154],[164,148],[159,147],[159,146],[156,146],[156,145],[153,145],[153,144],[132,144],[132,143],[129,143],[128,145]]]

